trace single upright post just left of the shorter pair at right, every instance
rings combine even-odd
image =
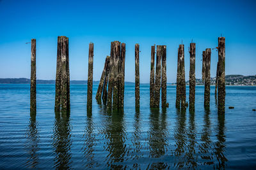
[[[190,43],[190,67],[189,67],[189,110],[195,110],[195,57],[196,57],[196,44]]]

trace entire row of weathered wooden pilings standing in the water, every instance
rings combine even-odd
[[[157,45],[156,73],[155,48],[151,46],[150,108],[159,108],[160,90],[162,108],[166,103],[166,46]],[[216,70],[215,96],[218,93],[218,110],[225,110],[225,37],[218,38],[218,64]],[[135,103],[140,107],[140,45],[135,45]],[[189,110],[195,110],[195,43],[190,44]],[[210,106],[211,48],[206,48],[202,57],[202,81],[205,83],[204,106]],[[56,64],[55,111],[70,111],[70,73],[68,38],[58,36]],[[125,43],[111,42],[111,55],[105,60],[96,99],[107,104],[108,109],[124,108]],[[89,45],[87,109],[92,110],[93,43]],[[184,109],[186,103],[186,81],[184,67],[184,45],[178,48],[176,108]],[[36,111],[36,39],[31,39],[31,85],[30,110]]]

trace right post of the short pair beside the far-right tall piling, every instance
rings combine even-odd
[[[205,50],[205,86],[204,86],[204,107],[210,107],[211,87],[211,48]]]

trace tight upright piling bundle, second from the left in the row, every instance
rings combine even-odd
[[[70,111],[70,74],[66,36],[58,36],[54,109],[61,112]]]

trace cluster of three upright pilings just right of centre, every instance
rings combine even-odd
[[[156,49],[156,74],[155,74],[155,48]],[[166,103],[166,45],[151,46],[150,64],[150,108],[159,108],[160,90],[161,106],[168,108]]]

